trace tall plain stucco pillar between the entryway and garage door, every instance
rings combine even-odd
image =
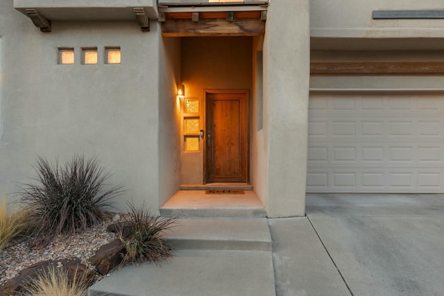
[[[264,38],[268,166],[261,172],[269,217],[305,215],[309,62],[309,1],[270,1]]]

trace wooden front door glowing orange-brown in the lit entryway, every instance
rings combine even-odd
[[[248,92],[206,94],[207,183],[248,182]]]

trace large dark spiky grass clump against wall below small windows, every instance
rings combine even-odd
[[[100,223],[123,186],[105,184],[110,173],[97,157],[74,155],[64,165],[37,157],[34,182],[21,184],[19,196],[30,211],[31,246],[46,246],[60,233],[73,234]]]

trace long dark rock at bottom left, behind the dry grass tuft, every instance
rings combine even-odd
[[[92,284],[94,281],[95,272],[93,270],[89,270],[86,265],[80,263],[80,259],[47,260],[40,261],[22,270],[20,275],[10,279],[3,286],[1,292],[3,292],[4,296],[16,295],[16,293],[25,293],[26,284],[29,281],[38,279],[42,272],[47,272],[51,268],[62,268],[62,270],[67,270],[68,279],[70,282],[74,281],[74,277],[76,277],[76,280],[85,277],[89,284]]]

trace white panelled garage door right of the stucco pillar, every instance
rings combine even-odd
[[[307,192],[443,193],[444,94],[311,94]]]

